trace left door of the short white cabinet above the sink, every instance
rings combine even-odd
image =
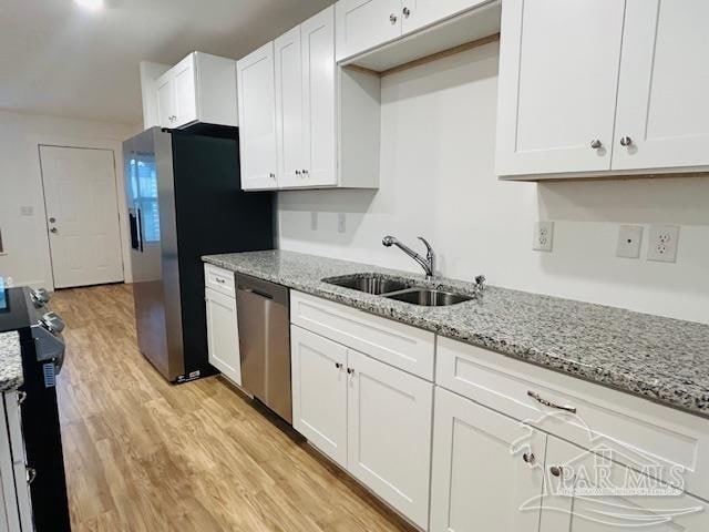
[[[401,37],[402,0],[339,0],[335,4],[337,60]]]

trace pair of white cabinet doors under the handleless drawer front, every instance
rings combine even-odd
[[[296,325],[290,334],[294,428],[425,529],[433,385]]]

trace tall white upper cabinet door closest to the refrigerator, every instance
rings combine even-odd
[[[242,188],[277,188],[274,43],[236,63]]]

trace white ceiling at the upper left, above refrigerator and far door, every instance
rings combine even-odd
[[[142,121],[138,63],[239,59],[332,0],[0,1],[0,109]]]

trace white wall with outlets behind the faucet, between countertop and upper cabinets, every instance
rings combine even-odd
[[[279,193],[280,247],[418,270],[381,238],[424,235],[449,277],[709,323],[709,177],[501,183],[496,73],[490,44],[384,78],[380,190]],[[532,250],[537,219],[551,254]],[[626,223],[681,225],[677,264],[645,259],[647,227],[641,258],[616,258]]]

